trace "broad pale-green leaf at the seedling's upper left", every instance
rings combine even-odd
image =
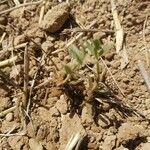
[[[74,59],[81,65],[83,63],[83,60],[85,58],[85,52],[82,50],[79,50],[76,45],[71,45],[70,53]]]

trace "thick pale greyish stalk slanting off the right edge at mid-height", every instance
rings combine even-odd
[[[138,67],[150,93],[150,77],[148,76],[148,73],[144,68],[144,64],[140,60],[138,61]]]

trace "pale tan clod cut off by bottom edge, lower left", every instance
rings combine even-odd
[[[29,147],[31,150],[43,150],[43,146],[35,139],[29,139]]]

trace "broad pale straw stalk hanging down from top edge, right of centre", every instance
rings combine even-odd
[[[115,28],[116,28],[116,52],[118,53],[123,48],[124,31],[120,24],[115,0],[111,0],[111,9],[112,9],[112,15],[115,23]]]

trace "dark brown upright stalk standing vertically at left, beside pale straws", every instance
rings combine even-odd
[[[25,47],[24,52],[24,97],[23,97],[23,107],[24,109],[27,106],[28,101],[28,82],[29,82],[29,56],[28,56],[28,48]]]

